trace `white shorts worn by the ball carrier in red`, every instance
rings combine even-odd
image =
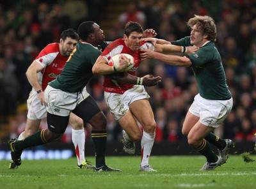
[[[134,86],[124,94],[104,92],[104,100],[113,117],[118,120],[129,110],[129,105],[136,101],[150,98],[144,86]]]

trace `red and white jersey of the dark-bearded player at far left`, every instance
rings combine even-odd
[[[35,61],[44,67],[41,72],[37,73],[38,81],[43,90],[49,82],[60,75],[67,59],[68,56],[63,56],[60,53],[60,43],[50,43],[41,50]]]

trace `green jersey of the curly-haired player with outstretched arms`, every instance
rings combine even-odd
[[[189,36],[172,42],[172,44],[192,46]],[[232,97],[227,86],[220,53],[214,46],[214,42],[208,42],[197,52],[186,56],[192,63],[191,68],[200,96],[208,100],[228,100]]]

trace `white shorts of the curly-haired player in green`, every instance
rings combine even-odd
[[[200,94],[196,94],[194,102],[189,108],[191,114],[200,117],[203,125],[218,128],[231,112],[233,99],[229,100],[207,100]]]

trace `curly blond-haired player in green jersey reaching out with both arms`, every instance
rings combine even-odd
[[[154,58],[173,66],[190,66],[195,75],[199,93],[188,110],[182,126],[182,133],[188,135],[188,143],[207,159],[200,170],[214,170],[227,161],[234,142],[221,139],[212,132],[218,128],[232,110],[233,100],[228,89],[221,57],[214,46],[216,25],[209,16],[198,16],[188,20],[190,36],[172,42],[182,46],[198,47],[199,50],[186,56],[175,56],[161,52],[171,52],[172,45],[164,40],[147,39],[153,42],[155,50],[141,50],[141,57]],[[146,41],[147,41],[146,40]],[[216,155],[209,144],[218,148]]]

